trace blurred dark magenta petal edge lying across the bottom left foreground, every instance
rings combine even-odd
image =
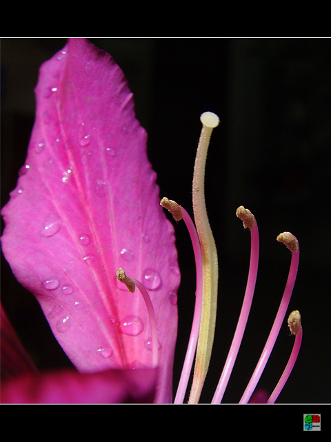
[[[24,375],[1,385],[1,403],[152,403],[157,369]]]

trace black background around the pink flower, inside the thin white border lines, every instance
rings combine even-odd
[[[291,231],[299,239],[301,261],[289,312],[301,311],[304,334],[278,402],[330,403],[330,39],[90,40],[110,52],[128,78],[137,117],[149,134],[161,196],[189,212],[199,116],[213,111],[221,119],[212,135],[205,182],[220,276],[216,338],[201,401],[212,398],[245,291],[250,235],[235,216],[243,204],[259,223],[261,258],[247,332],[223,401],[239,401],[268,337],[290,265],[290,252],[276,237]],[[1,39],[1,206],[26,157],[39,66],[65,44],[62,38]],[[183,223],[176,232],[182,283],[175,386],[195,287]],[[23,344],[43,369],[68,365],[37,302],[1,259],[1,300]],[[292,343],[284,323],[259,387],[273,390]]]

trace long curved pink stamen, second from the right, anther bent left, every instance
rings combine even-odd
[[[290,271],[288,273],[288,280],[286,282],[286,286],[283,293],[283,298],[281,299],[281,304],[279,305],[279,309],[277,311],[277,316],[274,320],[274,323],[272,325],[272,329],[270,331],[270,334],[268,336],[268,340],[265,343],[265,347],[263,349],[263,352],[259,358],[259,362],[257,363],[257,367],[254,369],[254,373],[252,374],[252,377],[250,378],[250,382],[248,383],[248,386],[246,387],[245,392],[243,393],[243,396],[241,397],[241,400],[239,403],[248,403],[250,400],[250,396],[252,396],[252,393],[254,392],[255,387],[257,386],[257,383],[259,382],[259,379],[261,377],[261,374],[263,373],[263,370],[265,368],[265,365],[268,362],[269,356],[272,352],[272,349],[274,347],[274,343],[276,342],[277,336],[279,334],[279,330],[281,329],[281,325],[283,323],[283,319],[286,314],[286,310],[288,309],[288,304],[290,302],[290,298],[292,296],[292,291],[295,283],[295,279],[297,278],[297,271],[299,266],[299,242],[295,236],[292,235],[290,232],[284,232],[281,233],[279,236],[277,236],[277,240],[284,242],[286,247],[288,247],[292,251],[292,258],[291,258],[291,265],[290,265]]]

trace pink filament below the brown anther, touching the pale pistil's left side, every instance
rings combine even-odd
[[[202,276],[202,253],[201,246],[199,242],[199,237],[197,234],[197,230],[195,228],[194,222],[190,215],[188,214],[183,207],[181,207],[183,211],[183,220],[188,228],[188,233],[190,234],[193,251],[194,251],[194,259],[195,259],[195,267],[196,267],[196,278],[197,278],[197,291],[196,291],[196,299],[195,299],[195,307],[194,307],[194,316],[193,323],[191,328],[190,339],[188,343],[188,349],[186,351],[185,361],[183,364],[183,369],[181,372],[181,378],[179,380],[179,385],[177,387],[177,393],[174,398],[174,403],[183,403],[185,392],[188,387],[188,380],[190,378],[190,373],[192,371],[192,364],[194,360],[194,354],[197,349],[197,340],[199,336],[199,327],[201,321],[201,306],[202,306],[202,287],[203,287],[203,276]]]

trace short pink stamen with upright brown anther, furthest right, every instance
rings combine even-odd
[[[288,317],[288,327],[290,327],[290,332],[295,335],[294,345],[283,374],[281,375],[281,378],[279,379],[276,387],[274,387],[274,391],[272,392],[272,394],[270,394],[270,398],[268,399],[267,403],[274,403],[274,401],[276,401],[279,393],[281,392],[281,390],[283,390],[285,383],[288,381],[288,377],[290,376],[294,364],[297,361],[302,342],[301,314],[298,310],[292,311],[292,313]]]

